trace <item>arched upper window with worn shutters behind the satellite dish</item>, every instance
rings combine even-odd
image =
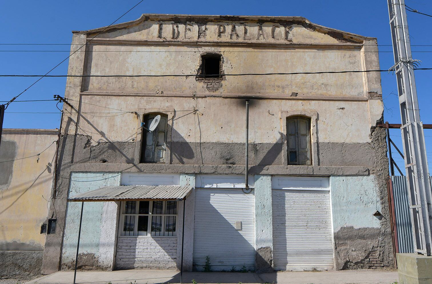
[[[144,116],[144,125],[148,128],[158,114]],[[165,161],[168,116],[160,114],[161,121],[152,132],[143,129],[141,163],[161,163]]]

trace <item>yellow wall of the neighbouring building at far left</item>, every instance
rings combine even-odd
[[[43,250],[57,130],[3,129],[0,145],[0,250]],[[53,143],[54,142],[54,143]],[[50,146],[51,145],[51,146]],[[36,155],[50,146],[41,155]],[[39,157],[39,161],[37,161]],[[10,161],[3,162],[2,161]]]

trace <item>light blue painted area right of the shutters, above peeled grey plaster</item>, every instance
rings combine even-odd
[[[334,231],[349,226],[380,227],[380,221],[372,215],[381,211],[377,191],[378,182],[373,175],[330,177]]]

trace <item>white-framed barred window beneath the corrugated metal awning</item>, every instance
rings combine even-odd
[[[120,236],[175,237],[176,223],[177,201],[121,202]]]

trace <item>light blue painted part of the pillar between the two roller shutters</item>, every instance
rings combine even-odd
[[[273,210],[270,175],[255,175],[255,248],[273,249]]]

